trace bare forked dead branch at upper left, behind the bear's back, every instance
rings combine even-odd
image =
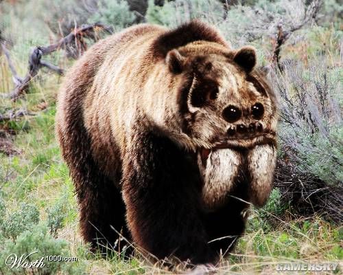
[[[42,60],[42,56],[51,54],[56,50],[70,50],[73,48],[77,49],[76,52],[78,54],[75,57],[78,57],[82,55],[84,51],[86,51],[86,42],[84,41],[84,37],[88,37],[96,41],[98,38],[97,30],[103,30],[108,33],[112,32],[112,28],[101,23],[95,23],[92,25],[82,25],[80,28],[75,28],[70,34],[60,39],[58,43],[54,43],[47,46],[34,47],[31,54],[29,55],[28,72],[25,78],[21,78],[18,76],[18,74],[16,73],[16,69],[14,68],[14,65],[11,61],[10,53],[5,47],[5,43],[0,41],[1,49],[3,50],[8,61],[8,65],[12,72],[13,81],[15,85],[13,91],[11,91],[8,94],[1,94],[1,97],[12,98],[12,100],[16,100],[17,98],[19,98],[19,96],[21,96],[21,94],[23,94],[23,92],[27,90],[27,88],[29,87],[29,82],[38,74],[38,71],[41,67],[46,67],[60,75],[64,74],[63,69],[56,65],[50,64],[47,61]]]

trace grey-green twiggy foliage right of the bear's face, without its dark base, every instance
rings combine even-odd
[[[298,164],[329,185],[343,182],[342,69],[322,61],[308,69],[285,65],[275,76],[281,94],[279,137],[283,150]]]

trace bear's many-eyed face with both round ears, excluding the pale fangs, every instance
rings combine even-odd
[[[183,131],[197,148],[252,148],[275,141],[276,102],[261,74],[252,72],[255,50],[189,56],[173,50],[167,58],[189,83],[182,91],[187,94]]]

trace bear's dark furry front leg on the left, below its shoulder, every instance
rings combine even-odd
[[[154,133],[137,135],[131,144],[123,159],[122,184],[134,242],[158,259],[213,263],[194,162],[167,137]]]

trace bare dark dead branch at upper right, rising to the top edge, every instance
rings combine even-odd
[[[282,67],[280,64],[280,51],[281,51],[281,46],[284,45],[289,39],[289,36],[296,30],[300,30],[300,28],[303,28],[304,25],[309,23],[310,21],[316,19],[318,11],[320,9],[320,6],[322,5],[321,0],[314,0],[312,3],[309,5],[305,12],[305,16],[300,23],[296,25],[292,25],[289,30],[285,30],[286,28],[283,26],[283,24],[280,22],[277,25],[277,32],[276,32],[276,43],[274,45],[274,50],[273,50],[273,61],[276,63],[278,66],[279,70],[282,72]]]

